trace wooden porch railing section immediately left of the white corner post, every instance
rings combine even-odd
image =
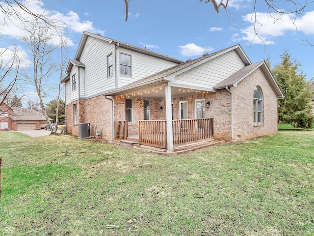
[[[166,121],[140,120],[139,143],[157,148],[166,148]]]

